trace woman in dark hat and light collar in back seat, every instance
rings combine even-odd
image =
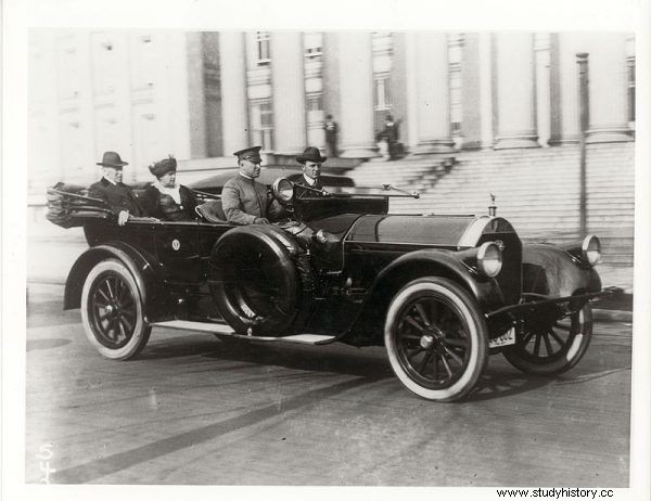
[[[176,183],[176,158],[171,156],[149,167],[156,180],[146,187],[140,205],[148,216],[165,221],[192,221],[196,219],[196,198],[192,192]]]

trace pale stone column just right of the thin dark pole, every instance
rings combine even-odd
[[[626,35],[602,33],[589,46],[590,127],[586,142],[633,141],[626,110]]]

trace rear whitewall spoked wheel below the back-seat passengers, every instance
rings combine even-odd
[[[127,360],[144,348],[152,327],[144,321],[136,280],[117,259],[100,261],[88,273],[81,321],[90,344],[106,358]]]

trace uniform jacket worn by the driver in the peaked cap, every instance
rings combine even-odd
[[[280,219],[283,209],[273,201],[269,204],[267,187],[254,179],[237,176],[221,190],[221,206],[229,222],[253,224],[255,218]]]

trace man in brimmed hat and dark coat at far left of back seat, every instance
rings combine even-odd
[[[124,226],[129,216],[141,216],[142,210],[138,205],[136,195],[129,187],[122,182],[122,169],[127,162],[123,162],[115,152],[105,152],[102,162],[102,179],[88,188],[88,196],[103,200],[111,210],[117,216],[117,223]]]

